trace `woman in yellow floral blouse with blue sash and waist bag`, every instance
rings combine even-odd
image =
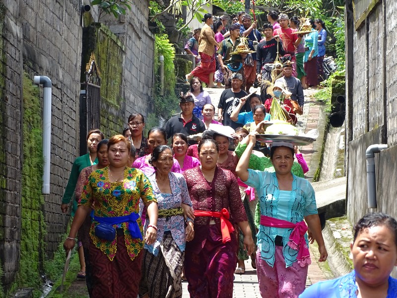
[[[89,247],[94,298],[136,298],[143,243],[150,245],[156,240],[156,199],[145,174],[127,166],[130,147],[121,135],[109,139],[109,166],[89,175],[64,242],[66,251],[73,248],[77,230],[94,204]],[[138,215],[140,199],[149,218],[144,239]]]

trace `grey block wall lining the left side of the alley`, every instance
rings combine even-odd
[[[84,41],[80,5],[81,0],[0,0],[0,270],[4,271],[5,289],[19,270],[23,249],[24,71],[31,77],[30,83],[33,75],[46,75],[53,82],[51,194],[44,196],[42,214],[47,233],[42,246],[46,255],[40,256],[39,262],[51,258],[64,240],[69,217],[61,214],[60,205],[79,151],[80,73],[85,67],[81,55]],[[98,17],[97,9],[93,10],[94,17]],[[132,11],[120,20],[104,18],[123,49],[116,66],[121,79],[115,87],[121,104],[112,109],[105,104],[101,112],[106,115],[104,119],[118,125],[111,132],[122,132],[131,112],[146,116],[152,111],[154,36],[147,29],[148,14],[148,0],[144,0],[134,2]],[[42,87],[40,90],[42,97]],[[36,220],[40,221],[31,219]],[[39,267],[43,268],[43,264]]]

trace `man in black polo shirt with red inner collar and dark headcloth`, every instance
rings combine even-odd
[[[195,115],[193,108],[195,107],[195,99],[192,94],[187,93],[180,97],[179,106],[181,107],[181,115],[174,116],[165,124],[167,139],[176,133],[182,133],[186,136],[196,135],[205,130],[204,123]],[[197,144],[197,142],[189,140],[189,145]]]

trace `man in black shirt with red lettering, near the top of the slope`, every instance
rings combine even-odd
[[[258,80],[262,78],[271,81],[270,73],[277,57],[277,51],[279,56],[283,56],[284,50],[279,37],[273,38],[273,26],[271,24],[264,24],[263,33],[265,38],[259,43],[257,48],[257,78]]]

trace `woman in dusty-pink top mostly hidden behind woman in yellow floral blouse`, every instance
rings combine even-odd
[[[77,179],[77,184],[76,184],[76,189],[75,189],[75,199],[76,202],[80,200],[81,193],[83,192],[84,185],[88,181],[89,175],[98,169],[103,169],[104,167],[109,165],[109,160],[108,160],[108,139],[102,140],[101,142],[98,143],[97,146],[97,159],[98,163],[88,166],[86,168],[83,168],[82,171],[80,172],[80,175],[78,176]],[[84,223],[81,225],[80,229],[78,230],[78,245],[79,247],[83,247],[84,251],[84,261],[85,262],[85,283],[87,284],[87,290],[88,294],[91,297],[92,296],[92,268],[90,265],[89,261],[89,230],[91,227],[92,219],[91,216],[88,215],[85,218]],[[80,256],[79,256],[80,257]],[[81,261],[80,261],[81,263]]]

